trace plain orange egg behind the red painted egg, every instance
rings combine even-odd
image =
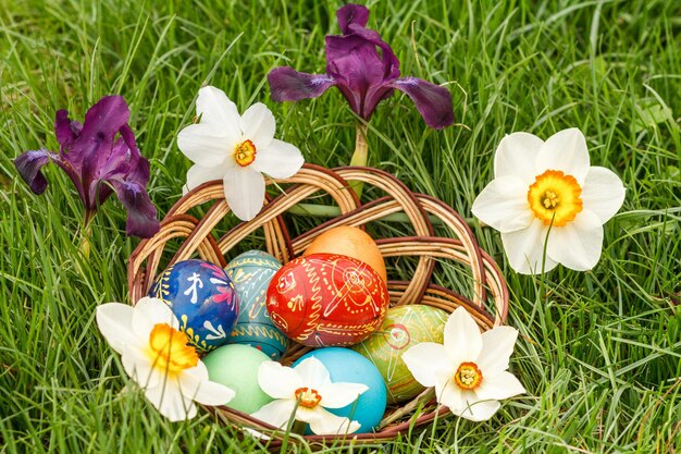
[[[339,254],[363,261],[379,273],[383,282],[387,282],[381,250],[372,237],[361,229],[342,225],[322,233],[314,238],[304,256],[318,253]]]

